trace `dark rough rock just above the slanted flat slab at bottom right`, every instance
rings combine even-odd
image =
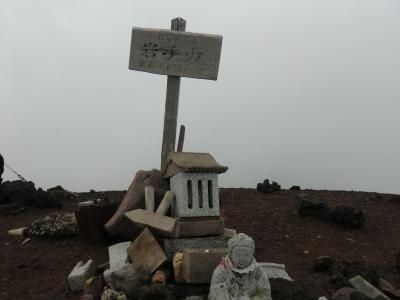
[[[331,268],[331,282],[338,288],[350,287],[349,279],[361,276],[375,287],[379,287],[379,276],[376,269],[363,262],[338,262]]]

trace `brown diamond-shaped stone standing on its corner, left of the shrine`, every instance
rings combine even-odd
[[[163,249],[147,228],[129,246],[127,252],[134,269],[147,276],[143,279],[148,279],[148,276],[167,261]]]

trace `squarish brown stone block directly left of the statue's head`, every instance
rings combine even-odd
[[[214,269],[228,254],[228,249],[185,249],[183,278],[188,283],[210,283]]]

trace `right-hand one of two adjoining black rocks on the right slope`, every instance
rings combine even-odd
[[[365,216],[361,209],[346,205],[338,205],[330,212],[333,222],[352,228],[362,228]]]

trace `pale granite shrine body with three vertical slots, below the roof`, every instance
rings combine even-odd
[[[171,177],[170,185],[175,194],[173,217],[219,216],[216,173],[178,173]]]

